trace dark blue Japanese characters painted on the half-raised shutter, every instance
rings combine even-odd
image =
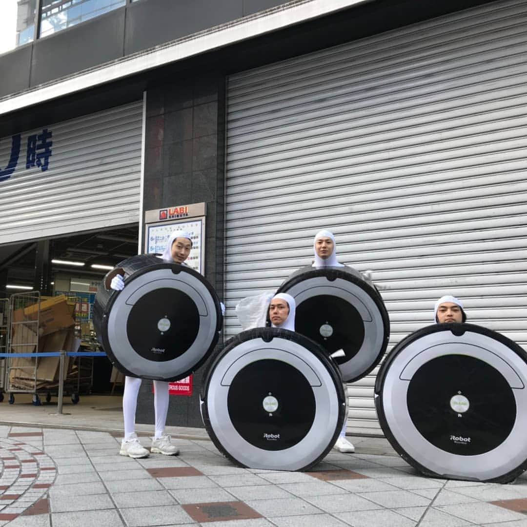
[[[30,168],[40,168],[45,172],[50,166],[51,147],[53,145],[52,131],[44,128],[42,133],[35,133],[27,136],[26,148],[26,170]],[[11,154],[7,166],[0,165],[0,182],[5,181],[13,175],[20,157],[22,145],[22,134],[15,134],[11,138]]]

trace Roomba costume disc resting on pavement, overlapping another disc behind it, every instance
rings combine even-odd
[[[345,409],[333,360],[294,331],[243,331],[212,355],[204,374],[207,432],[231,461],[253,469],[308,469],[335,444]]]

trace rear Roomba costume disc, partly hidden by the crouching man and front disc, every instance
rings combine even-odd
[[[351,267],[303,267],[277,292],[296,300],[295,330],[336,356],[346,382],[371,372],[390,334],[388,312],[375,286]]]

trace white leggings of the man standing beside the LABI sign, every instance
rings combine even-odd
[[[124,437],[128,438],[135,431],[135,411],[137,396],[143,379],[125,377],[123,394]],[[155,435],[163,434],[168,412],[168,383],[164,380],[154,380],[154,414]]]

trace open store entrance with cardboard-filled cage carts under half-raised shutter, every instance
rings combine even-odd
[[[139,227],[132,224],[0,246],[0,346],[13,354],[0,360],[5,402],[57,401],[59,358],[15,354],[65,348],[88,354],[104,351],[93,329],[96,290],[108,270],[138,253],[138,238]],[[7,333],[12,337],[9,343]],[[124,377],[107,357],[67,357],[66,362],[64,404],[94,396],[101,409],[120,408]]]

